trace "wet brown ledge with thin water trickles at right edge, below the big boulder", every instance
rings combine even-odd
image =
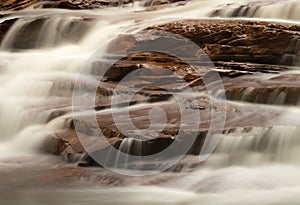
[[[226,98],[259,104],[299,105],[300,82],[297,76],[298,74],[282,74],[260,80],[241,78],[224,81]]]

